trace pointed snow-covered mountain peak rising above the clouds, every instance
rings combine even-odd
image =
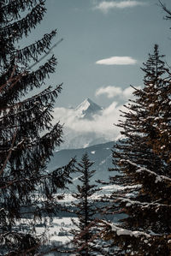
[[[94,103],[90,98],[85,98],[85,100],[76,107],[75,112],[79,118],[91,119],[93,115],[99,114],[101,110],[103,110],[102,107]]]

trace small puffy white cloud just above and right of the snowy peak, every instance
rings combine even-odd
[[[137,86],[140,89],[140,86]],[[122,89],[117,86],[106,86],[100,87],[96,91],[96,96],[106,95],[108,98],[119,97],[121,99],[127,100],[128,98],[133,98],[133,87],[129,86],[126,89]]]

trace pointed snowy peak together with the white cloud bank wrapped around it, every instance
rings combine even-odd
[[[89,108],[87,99],[75,109],[56,108],[54,122],[60,120],[64,124],[65,140],[62,148],[78,148],[91,146],[97,143],[117,140],[119,128],[114,123],[118,122],[120,111],[123,107],[113,102],[109,107],[94,110],[93,102]],[[83,106],[85,105],[85,108]],[[90,110],[91,108],[91,110]]]

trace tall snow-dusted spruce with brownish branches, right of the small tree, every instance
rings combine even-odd
[[[111,182],[125,188],[112,197],[127,217],[109,225],[115,255],[171,255],[171,84],[162,58],[155,45],[142,68],[144,88],[135,89],[119,123],[125,139],[113,159],[121,175]]]

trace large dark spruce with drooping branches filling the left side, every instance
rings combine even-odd
[[[53,197],[65,188],[73,162],[46,171],[53,150],[62,142],[62,125],[52,126],[51,111],[62,85],[48,86],[28,98],[55,72],[51,56],[35,69],[41,54],[50,51],[56,31],[44,34],[22,49],[20,39],[29,36],[44,17],[42,0],[2,0],[0,3],[0,253],[34,255],[41,243],[32,230],[21,230],[22,217],[47,216],[56,210]],[[42,60],[42,57],[41,57]],[[32,70],[30,67],[34,68]],[[17,223],[17,225],[16,225]],[[27,219],[24,220],[27,223]],[[33,224],[30,228],[34,228]]]

